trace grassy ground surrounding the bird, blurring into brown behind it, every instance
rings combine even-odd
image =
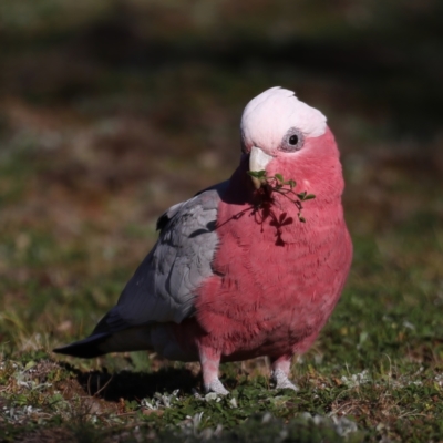
[[[35,4],[0,6],[0,440],[442,441],[439,7]],[[165,208],[229,176],[243,106],[276,84],[329,117],[354,243],[300,391],[262,359],[223,365],[217,399],[196,364],[51,353],[113,306]]]

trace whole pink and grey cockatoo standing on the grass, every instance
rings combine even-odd
[[[154,350],[199,361],[206,391],[219,394],[228,393],[220,362],[267,356],[276,388],[297,390],[291,359],[332,313],[352,259],[339,152],[321,112],[280,87],[248,103],[240,128],[230,179],[163,214],[117,305],[90,337],[55,352]],[[300,202],[267,181],[276,174],[316,196],[302,217]]]

